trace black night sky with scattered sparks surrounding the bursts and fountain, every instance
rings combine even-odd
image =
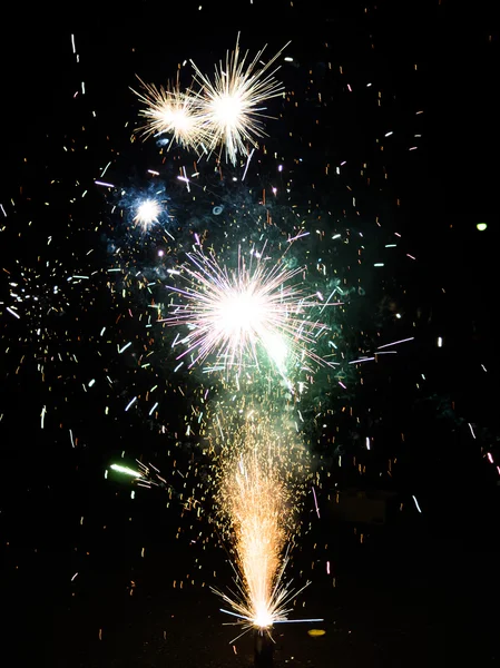
[[[298,218],[296,262],[324,262],[349,297],[330,321],[339,367],[302,404],[318,505],[310,485],[290,564],[298,587],[312,581],[292,617],[324,618],[325,633],[277,627],[275,665],[498,661],[499,36],[487,2],[331,4],[12,7],[3,23],[0,598],[13,666],[252,665],[209,590],[232,579],[213,500],[200,513],[186,502],[210,490],[188,425],[217,383],[177,369],[176,332],[145,323],[196,235],[228,248],[268,228],[273,247]],[[238,32],[252,57],[291,40],[292,58],[244,180],[246,158],[197,161],[134,135],[130,90],[189,59],[212,76]],[[194,167],[189,188],[178,176]],[[168,215],[139,232],[137,197],[158,191]],[[109,470],[136,460],[170,492]],[[383,525],[339,513],[382,494]]]

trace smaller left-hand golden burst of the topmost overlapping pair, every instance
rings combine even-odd
[[[199,150],[204,139],[207,141],[199,97],[189,90],[183,92],[178,80],[175,86],[166,88],[139,81],[144,92],[131,90],[146,105],[140,111],[146,118],[146,125],[139,128],[143,135],[149,137],[168,132],[180,146]]]

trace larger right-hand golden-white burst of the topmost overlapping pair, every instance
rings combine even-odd
[[[290,43],[290,42],[288,42]],[[238,154],[246,156],[247,145],[256,146],[263,131],[263,104],[283,94],[283,86],[274,73],[268,71],[288,45],[285,45],[269,61],[261,66],[264,49],[247,65],[248,51],[241,57],[239,36],[235,50],[226,55],[225,67],[220,61],[215,68],[214,81],[205,76],[192,61],[196,80],[202,87],[199,101],[204,124],[210,136],[210,150],[224,147],[226,159],[236,164]],[[268,118],[268,117],[267,117]]]

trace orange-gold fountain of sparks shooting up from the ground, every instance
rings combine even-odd
[[[237,591],[216,593],[231,607],[223,611],[243,625],[243,633],[252,628],[268,631],[292,621],[290,603],[307,586],[293,590],[283,579],[288,562],[285,548],[296,532],[304,480],[304,473],[297,473],[304,468],[304,452],[288,438],[285,424],[278,435],[262,415],[242,430],[232,426],[220,460],[218,502],[233,538]]]

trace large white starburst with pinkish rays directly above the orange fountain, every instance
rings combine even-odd
[[[312,346],[325,328],[311,318],[317,304],[292,283],[304,267],[290,269],[283,263],[266,267],[264,259],[253,257],[247,266],[238,248],[237,269],[231,271],[214,255],[188,254],[187,287],[170,287],[184,303],[171,304],[173,315],[160,321],[189,327],[183,340],[187,348],[179,358],[194,353],[193,366],[214,354],[220,369],[241,370],[259,366],[264,351],[283,377],[290,355],[301,363],[324,363]]]

